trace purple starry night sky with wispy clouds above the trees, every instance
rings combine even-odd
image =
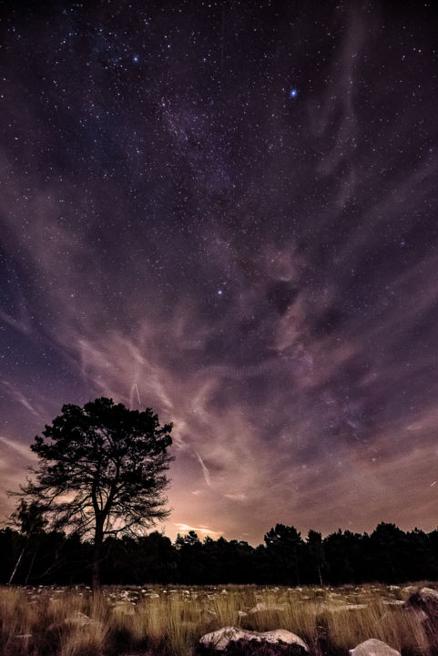
[[[170,538],[435,528],[433,3],[0,17],[2,515],[105,395],[174,422]]]

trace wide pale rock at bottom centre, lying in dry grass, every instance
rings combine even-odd
[[[266,649],[270,646],[270,649]],[[285,629],[270,631],[251,631],[236,627],[225,627],[206,633],[199,639],[198,653],[226,651],[229,653],[291,653],[305,654],[309,647],[295,633]],[[240,649],[242,648],[242,649]],[[261,648],[261,649],[260,649]],[[265,648],[265,649],[263,649]],[[277,648],[277,649],[276,649]],[[287,649],[285,649],[287,648]]]

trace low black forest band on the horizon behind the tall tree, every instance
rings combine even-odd
[[[30,538],[13,528],[0,530],[0,582],[5,584],[25,547],[14,583],[91,584],[93,545],[78,536],[39,528]],[[225,538],[200,539],[194,532],[172,542],[157,530],[132,538],[108,537],[102,546],[101,582],[114,585],[340,585],[372,581],[402,583],[438,579],[438,528],[402,531],[381,523],[371,534],[341,528],[322,538],[303,539],[277,524],[252,547]]]

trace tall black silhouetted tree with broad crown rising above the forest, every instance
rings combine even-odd
[[[137,536],[168,516],[161,493],[168,487],[171,430],[150,408],[129,410],[102,397],[84,407],[64,405],[31,446],[39,458],[30,467],[36,480],[19,494],[35,501],[55,530],[92,538],[94,589],[107,536]]]

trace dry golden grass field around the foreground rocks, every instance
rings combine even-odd
[[[419,586],[2,588],[0,653],[188,656],[204,633],[233,625],[290,630],[318,656],[346,656],[369,638],[402,656],[432,656],[422,613],[402,608]]]

